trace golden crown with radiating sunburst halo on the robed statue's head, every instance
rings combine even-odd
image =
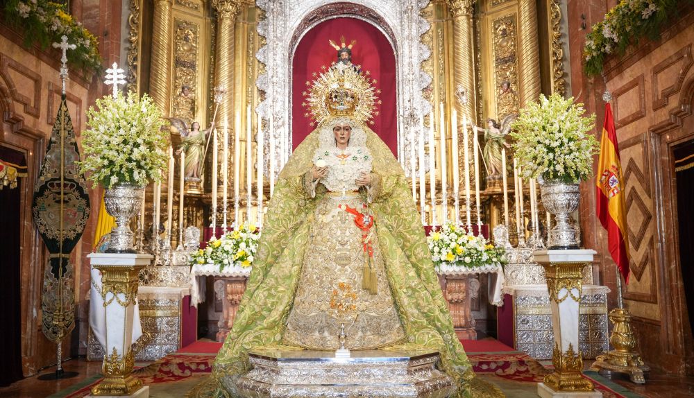
[[[372,115],[378,115],[373,110],[377,103],[375,94],[380,90],[373,87],[376,80],[368,75],[352,64],[339,63],[320,75],[314,72],[316,79],[307,81],[310,88],[303,92],[307,98],[302,105],[309,110],[304,116],[312,116],[318,124],[332,116],[351,116],[361,123],[373,124]]]

